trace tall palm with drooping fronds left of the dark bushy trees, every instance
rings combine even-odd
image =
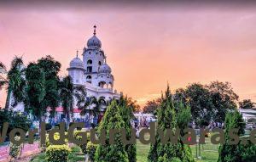
[[[23,77],[25,70],[23,69],[23,60],[21,57],[15,56],[11,63],[11,68],[7,74],[7,80],[9,83],[7,99],[5,103],[5,109],[9,109],[9,102],[11,99],[11,94],[15,101],[12,103],[15,106],[24,100],[24,88],[26,86],[26,80]]]

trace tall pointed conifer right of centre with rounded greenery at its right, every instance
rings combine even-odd
[[[188,106],[185,107],[181,102],[174,103],[170,87],[168,86],[165,98],[161,98],[160,109],[158,109],[157,116],[157,129],[163,130],[164,132],[166,132],[167,129],[171,129],[173,133],[177,126],[181,127],[181,129],[188,126],[191,114]],[[194,161],[191,149],[188,145],[183,144],[180,138],[181,137],[178,138],[177,144],[173,144],[170,141],[163,144],[160,143],[160,135],[157,131],[156,142],[151,144],[148,153],[148,161]]]

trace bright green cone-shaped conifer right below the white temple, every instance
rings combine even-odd
[[[128,162],[127,153],[125,152],[125,146],[121,142],[120,133],[116,133],[114,136],[114,143],[109,143],[109,130],[121,129],[125,127],[125,122],[122,120],[119,114],[118,103],[113,100],[107,108],[107,111],[99,126],[99,135],[102,136],[101,131],[106,130],[106,144],[99,144],[96,148],[95,161],[102,162]]]

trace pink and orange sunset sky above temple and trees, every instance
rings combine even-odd
[[[93,25],[114,88],[141,105],[159,97],[167,82],[174,90],[216,80],[256,102],[256,6],[2,4],[0,61],[9,69],[15,55],[26,64],[51,55],[67,75],[77,49],[82,59]]]

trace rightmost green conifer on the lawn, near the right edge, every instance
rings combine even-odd
[[[238,111],[230,112],[225,118],[225,142],[218,148],[218,162],[229,162],[229,161],[243,161],[248,157],[244,152],[247,152],[245,146],[241,142],[236,145],[230,145],[229,131],[232,128],[237,128],[237,135],[241,137],[244,134],[245,123],[242,120],[242,116]],[[256,156],[256,153],[250,154]]]

